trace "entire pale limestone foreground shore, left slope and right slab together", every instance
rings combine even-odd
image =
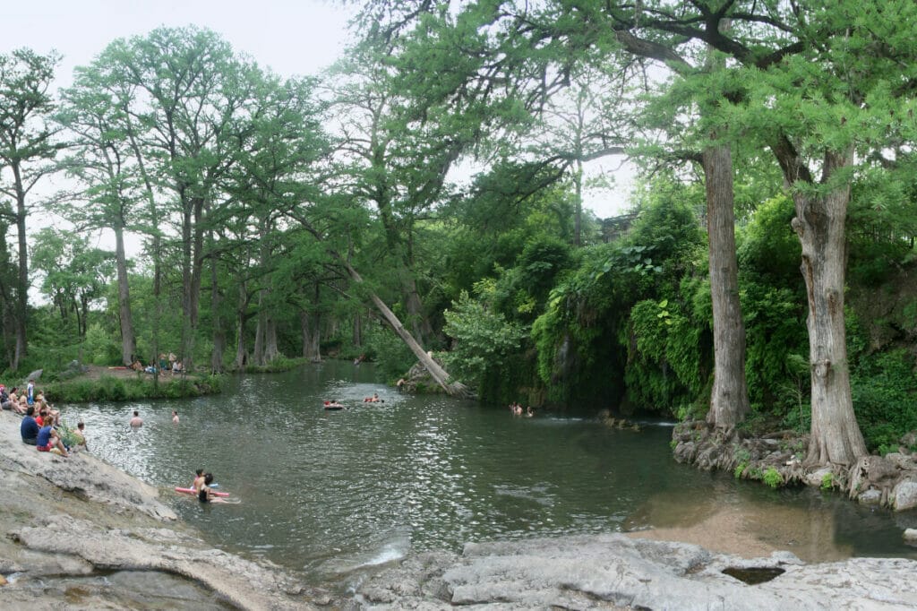
[[[412,553],[344,596],[213,549],[155,488],[88,452],[38,452],[22,444],[19,422],[0,412],[0,608],[917,607],[917,561],[806,564],[786,551],[742,558],[619,534]]]

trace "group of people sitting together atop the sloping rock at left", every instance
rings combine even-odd
[[[6,386],[0,384],[0,407],[22,416],[19,434],[23,443],[35,446],[39,452],[54,452],[61,456],[70,456],[72,450],[86,446],[85,424],[79,422],[76,429],[70,431],[67,442],[61,435],[61,412],[54,409],[43,394],[35,388],[35,381],[29,380],[26,390],[18,392],[14,387],[9,393]]]

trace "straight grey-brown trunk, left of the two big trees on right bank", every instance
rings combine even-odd
[[[735,260],[733,159],[728,145],[703,151],[713,300],[713,391],[707,422],[731,435],[748,413],[746,332]]]

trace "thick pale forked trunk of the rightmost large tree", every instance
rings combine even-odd
[[[828,152],[824,175],[830,180],[853,163],[853,151]],[[845,221],[850,183],[823,196],[796,189],[792,227],[802,245],[809,314],[809,364],[812,368],[812,435],[809,464],[853,466],[867,454],[850,393],[844,321]]]

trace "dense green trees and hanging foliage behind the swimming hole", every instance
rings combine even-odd
[[[915,8],[682,5],[369,2],[320,78],[195,27],[112,41],[62,91],[56,55],[0,57],[2,366],[365,355],[394,381],[432,352],[486,402],[702,418],[725,287],[738,426],[808,430],[826,256],[856,422],[897,447],[917,428]],[[641,178],[599,219],[584,164],[612,155]],[[840,246],[813,254],[838,211]]]

